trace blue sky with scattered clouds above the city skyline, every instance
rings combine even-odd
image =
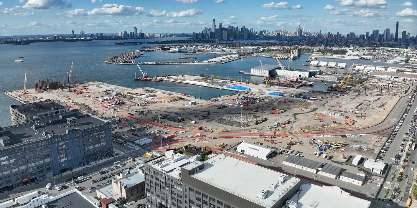
[[[0,35],[192,33],[216,25],[346,34],[417,32],[416,0],[0,0]]]

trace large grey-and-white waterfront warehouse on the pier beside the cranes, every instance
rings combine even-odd
[[[261,66],[251,68],[250,75],[266,77],[280,75],[288,76],[288,78],[309,78],[314,77],[317,71],[319,70],[301,70],[288,68],[286,68],[285,70],[281,70],[281,67],[279,65],[265,64],[263,65],[263,69]]]

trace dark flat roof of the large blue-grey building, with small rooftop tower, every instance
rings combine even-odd
[[[67,127],[67,118],[75,117],[76,125]],[[24,124],[14,125],[2,128],[0,130],[0,139],[10,139],[11,145],[24,143],[26,140],[34,141],[38,139],[48,138],[49,135],[63,135],[67,130],[78,128],[79,130],[91,128],[106,123],[90,115],[80,113],[78,111],[71,111],[62,113],[60,115],[51,115],[33,120],[27,120]],[[36,128],[34,128],[34,125]],[[27,143],[27,142],[26,142]],[[0,145],[0,149],[7,148]]]

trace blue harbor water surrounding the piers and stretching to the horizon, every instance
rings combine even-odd
[[[169,40],[168,38],[161,39],[146,39],[140,41],[156,41]],[[196,85],[187,85],[173,82],[141,82],[134,81],[134,73],[140,71],[136,65],[114,65],[107,64],[104,61],[114,55],[118,55],[126,50],[142,49],[142,46],[153,45],[115,45],[115,42],[122,42],[121,40],[97,40],[90,42],[53,42],[53,43],[32,43],[30,45],[0,45],[2,53],[0,56],[0,89],[2,91],[21,90],[23,89],[23,81],[25,73],[31,69],[38,79],[49,78],[53,80],[63,80],[63,76],[70,70],[71,62],[74,61],[73,77],[77,83],[88,81],[99,81],[113,85],[120,85],[127,88],[143,88],[151,87],[161,90],[173,91],[176,93],[186,93],[191,96],[198,97],[201,90],[201,98],[215,98],[221,95],[234,93],[230,90],[220,90],[214,88],[201,87]],[[190,53],[169,53],[164,52],[145,52],[144,55],[137,58],[136,61],[176,61],[181,60],[179,57],[196,57],[195,60],[208,60],[213,58],[215,54],[191,54]],[[24,62],[14,62],[20,56]],[[323,71],[335,70],[338,73],[343,73],[342,69],[320,68],[302,66],[306,64],[306,59],[309,55],[301,55],[296,60],[290,60],[291,68],[301,69],[315,69]],[[143,65],[141,68],[145,70],[149,76],[158,75],[173,75],[178,74],[206,74],[218,75],[224,78],[235,78],[242,80],[255,81],[262,83],[262,77],[255,77],[240,74],[239,71],[249,71],[251,68],[259,66],[259,60],[263,64],[277,64],[273,58],[255,57],[243,58],[234,60],[225,64],[205,64],[205,65]],[[353,63],[367,64],[367,65],[382,65],[391,66],[389,63],[374,63],[373,60],[345,60],[345,59],[319,59],[320,61],[333,61],[346,63],[347,67]],[[288,60],[281,60],[284,65],[288,65]],[[395,65],[394,65],[395,66]],[[402,67],[398,65],[397,67]],[[332,83],[314,83],[311,89],[326,90],[327,86]],[[28,88],[33,88],[34,79],[28,74]],[[0,126],[8,126],[10,121],[11,104],[20,104],[13,98],[6,95],[0,96]]]

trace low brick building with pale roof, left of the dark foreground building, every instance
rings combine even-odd
[[[96,190],[97,196],[101,199],[113,198],[117,201],[123,198],[127,202],[138,200],[145,194],[145,175],[140,167],[121,171],[116,175],[116,180],[112,180],[111,185]]]

